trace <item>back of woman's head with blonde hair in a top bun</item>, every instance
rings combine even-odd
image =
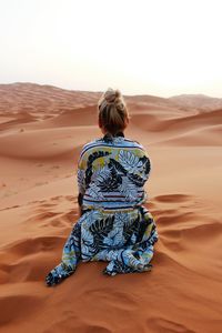
[[[109,88],[98,102],[99,123],[112,135],[123,131],[129,121],[124,99],[119,89]]]

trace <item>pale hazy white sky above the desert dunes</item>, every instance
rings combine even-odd
[[[0,0],[0,83],[222,98],[221,0]]]

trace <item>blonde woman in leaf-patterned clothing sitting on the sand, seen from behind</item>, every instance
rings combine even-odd
[[[108,261],[104,274],[151,270],[155,221],[142,205],[151,163],[144,148],[124,137],[129,114],[120,90],[98,103],[103,137],[83,145],[78,162],[80,219],[64,244],[62,261],[46,278],[54,285],[80,261]]]

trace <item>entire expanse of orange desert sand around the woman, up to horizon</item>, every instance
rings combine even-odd
[[[0,331],[221,332],[221,109],[125,97],[125,135],[152,163],[153,270],[105,278],[104,262],[80,263],[58,287],[44,285],[78,220],[77,161],[101,135],[99,97],[0,85]]]

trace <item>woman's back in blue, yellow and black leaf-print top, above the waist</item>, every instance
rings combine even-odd
[[[78,185],[82,206],[122,210],[144,202],[151,163],[137,141],[104,135],[87,143],[79,159]]]

